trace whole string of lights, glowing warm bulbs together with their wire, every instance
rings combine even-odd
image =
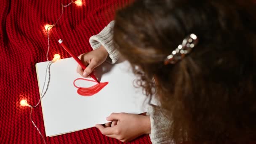
[[[37,131],[38,133],[40,134],[40,136],[42,137],[43,141],[44,141],[44,144],[46,144],[46,141],[45,141],[45,138],[44,136],[42,135],[42,133],[40,132],[39,128],[37,127],[37,125],[34,123],[34,121],[32,120],[32,110],[33,108],[37,107],[41,100],[43,99],[43,97],[45,96],[45,93],[47,92],[48,90],[48,86],[49,86],[49,83],[50,83],[50,77],[51,77],[51,73],[50,73],[50,67],[51,67],[51,64],[53,64],[55,61],[59,60],[61,58],[61,56],[56,53],[52,59],[52,61],[49,61],[48,60],[48,53],[49,53],[49,50],[50,50],[50,38],[49,38],[49,30],[51,30],[53,27],[56,26],[56,24],[59,22],[59,20],[61,19],[61,16],[63,15],[63,12],[64,12],[64,7],[68,7],[69,5],[71,5],[72,3],[75,3],[77,6],[82,6],[83,5],[83,2],[82,0],[76,0],[76,1],[73,1],[71,0],[71,2],[67,5],[63,5],[61,3],[61,15],[59,16],[59,19],[56,21],[55,24],[45,24],[44,28],[45,30],[47,31],[47,39],[48,39],[48,49],[47,49],[47,53],[46,53],[46,59],[48,61],[48,64],[47,64],[47,67],[46,67],[46,71],[45,71],[45,80],[44,80],[44,84],[43,84],[43,89],[42,89],[42,92],[40,94],[40,99],[39,101],[37,102],[37,104],[35,106],[31,106],[28,104],[27,100],[26,99],[22,99],[20,101],[20,105],[22,107],[30,107],[31,110],[30,110],[30,120],[32,122],[32,124],[35,126],[35,128],[37,128]],[[45,84],[46,84],[46,76],[47,76],[47,71],[48,71],[48,83],[47,83],[47,86],[45,88]],[[44,88],[45,88],[45,91],[44,91]]]

